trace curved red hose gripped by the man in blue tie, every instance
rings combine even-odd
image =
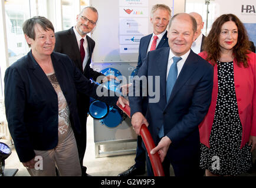
[[[124,108],[122,105],[118,104],[118,107],[123,110],[124,113],[127,114],[127,116],[130,117],[130,106],[125,105]],[[155,153],[154,155],[150,154],[150,151],[156,147],[152,136],[150,135],[149,129],[147,129],[147,126],[145,124],[140,127],[140,135],[142,136],[142,140],[145,143],[147,153],[149,155],[149,159],[153,168],[153,172],[155,176],[165,176],[165,173],[163,172],[163,166],[160,160],[160,157],[158,153]]]

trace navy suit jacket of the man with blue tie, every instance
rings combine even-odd
[[[160,76],[159,102],[148,103],[146,119],[149,132],[157,145],[157,135],[163,125],[172,140],[167,156],[172,160],[189,160],[199,145],[198,125],[211,103],[214,69],[204,59],[190,52],[166,102],[166,71],[170,48],[160,48],[147,54],[138,76]],[[149,85],[150,83],[147,83]],[[157,83],[153,84],[155,90]],[[136,87],[136,84],[134,84]],[[134,88],[135,90],[135,88]],[[157,92],[157,91],[155,91]],[[148,98],[154,98],[148,96]],[[142,112],[142,98],[129,97],[131,116]]]

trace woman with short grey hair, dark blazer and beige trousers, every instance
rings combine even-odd
[[[5,72],[6,118],[19,160],[31,176],[81,176],[74,132],[80,133],[77,90],[110,105],[122,97],[99,97],[67,55],[53,52],[54,27],[41,16],[25,21],[31,51]],[[39,161],[37,161],[39,160]]]

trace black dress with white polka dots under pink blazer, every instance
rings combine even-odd
[[[233,62],[218,63],[218,98],[209,137],[210,148],[201,144],[202,169],[219,175],[235,176],[251,167],[251,146],[242,149],[242,124],[235,95]]]

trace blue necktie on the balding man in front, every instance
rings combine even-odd
[[[181,60],[180,57],[173,57],[173,63],[172,66],[170,66],[170,70],[168,73],[168,78],[166,80],[166,103],[168,103],[168,100],[170,98],[170,93],[172,93],[172,88],[175,85],[177,76],[178,76],[178,68],[177,63]],[[164,135],[163,132],[163,125],[158,133],[159,138],[162,138]]]

